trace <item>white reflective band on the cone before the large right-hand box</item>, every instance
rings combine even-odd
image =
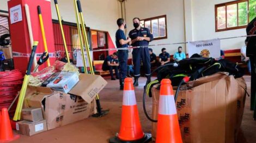
[[[173,95],[172,96],[171,95],[160,95],[159,114],[161,114],[161,115],[177,114]]]

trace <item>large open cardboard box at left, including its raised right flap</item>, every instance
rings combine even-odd
[[[96,113],[95,96],[107,82],[99,75],[81,74],[70,94],[48,87],[28,86],[25,108],[42,108],[47,128],[68,125]]]

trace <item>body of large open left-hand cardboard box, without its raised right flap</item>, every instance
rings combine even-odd
[[[48,129],[86,119],[96,112],[94,102],[47,87],[28,87],[25,107],[42,108]]]

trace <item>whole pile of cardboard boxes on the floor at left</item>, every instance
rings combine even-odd
[[[71,82],[65,80],[67,74],[70,74]],[[81,74],[78,80],[76,74],[65,72],[55,79],[53,82],[59,86],[27,87],[22,109],[23,121],[16,124],[20,134],[31,136],[89,118],[96,113],[95,96],[107,85],[106,80],[91,74]]]

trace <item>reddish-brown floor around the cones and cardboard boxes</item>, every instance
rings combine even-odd
[[[123,92],[119,90],[119,81],[111,81],[106,77],[108,85],[100,93],[101,106],[110,109],[110,112],[102,118],[88,118],[50,131],[27,137],[21,135],[19,140],[14,142],[108,142],[119,131],[121,105]],[[140,86],[135,88],[136,100],[144,132],[151,132],[151,122],[144,115],[142,107],[143,85],[145,78],[140,78]],[[251,89],[250,76],[245,76],[248,91]],[[252,119],[253,112],[249,111],[250,98],[246,99],[245,113],[239,135],[239,142],[255,142],[256,140],[256,121]],[[151,115],[151,99],[147,98],[148,113]]]

